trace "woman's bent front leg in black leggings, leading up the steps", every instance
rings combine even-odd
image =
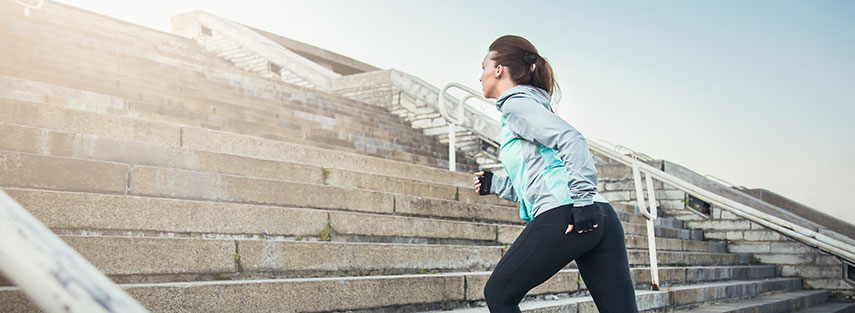
[[[583,234],[564,234],[571,208],[569,205],[546,211],[523,229],[484,287],[490,312],[520,312],[519,303],[529,290],[597,245],[603,237],[602,225]],[[598,218],[600,224],[605,221]]]

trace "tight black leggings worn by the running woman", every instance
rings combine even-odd
[[[571,210],[597,210],[597,228],[565,235]],[[560,206],[529,223],[496,264],[484,296],[490,312],[520,312],[519,303],[532,288],[576,260],[579,274],[600,312],[638,312],[629,276],[623,226],[608,203]]]

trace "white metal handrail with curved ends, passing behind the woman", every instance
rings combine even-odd
[[[477,91],[464,87],[458,83],[450,83],[446,85],[446,88],[449,87],[460,87],[460,89],[466,91],[471,94],[473,97],[480,97],[481,94]],[[443,89],[443,92],[445,89]],[[441,104],[441,97],[443,93],[440,93],[439,103]],[[458,111],[462,111],[461,108],[464,105],[465,100],[461,101]],[[440,105],[440,109],[444,110],[444,106]],[[450,124],[460,123],[463,121],[458,121],[450,118],[447,114],[442,113],[442,116],[446,118],[446,120]],[[836,240],[834,238],[828,237],[826,235],[820,234],[816,231],[812,231],[805,227],[790,223],[778,217],[766,214],[754,208],[751,208],[742,203],[733,201],[731,199],[727,199],[715,193],[712,193],[708,190],[705,190],[701,187],[698,187],[692,183],[689,183],[685,180],[677,178],[671,174],[665,173],[660,169],[654,168],[641,160],[652,160],[647,155],[637,153],[623,146],[615,146],[615,148],[608,148],[605,145],[600,143],[596,143],[593,141],[588,141],[588,147],[591,150],[594,150],[600,154],[607,156],[608,158],[615,160],[619,163],[632,167],[633,176],[635,180],[635,190],[636,190],[636,200],[638,201],[638,209],[641,211],[641,214],[647,219],[647,240],[648,240],[648,248],[650,249],[650,266],[651,266],[651,282],[653,284],[654,290],[659,287],[659,274],[657,269],[657,260],[656,260],[656,242],[654,237],[654,228],[653,221],[657,217],[656,212],[656,197],[655,190],[653,188],[653,179],[657,179],[665,184],[668,184],[682,192],[685,192],[695,198],[698,198],[702,201],[706,201],[710,204],[713,204],[721,209],[730,211],[731,213],[745,218],[749,221],[755,222],[757,224],[768,227],[772,230],[775,230],[779,233],[792,237],[796,240],[801,241],[802,243],[817,247],[821,250],[824,250],[828,253],[831,253],[839,258],[842,258],[848,262],[855,262],[855,246],[847,244],[845,242]],[[454,141],[449,140],[449,153],[451,155],[454,154]],[[627,151],[629,156],[622,154],[623,151]],[[641,160],[639,160],[641,159]],[[450,168],[454,170],[454,168]],[[641,174],[644,173],[646,185],[647,185],[647,194],[648,194],[648,202],[649,202],[649,210],[645,207],[644,204],[644,193],[642,192],[642,183],[641,183]],[[697,212],[695,212],[697,213]],[[706,217],[706,216],[705,216]]]

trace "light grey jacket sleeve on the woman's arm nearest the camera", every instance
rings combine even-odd
[[[509,97],[502,105],[502,114],[514,134],[557,152],[567,170],[574,206],[593,204],[597,193],[597,168],[588,142],[576,128],[522,94]]]

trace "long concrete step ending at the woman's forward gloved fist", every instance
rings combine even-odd
[[[95,95],[92,95],[96,97]],[[426,182],[471,188],[470,173],[321,149],[266,138],[239,135],[174,123],[147,121],[56,106],[0,101],[0,122],[102,137],[183,146],[192,150],[339,168],[361,173],[410,177]],[[196,141],[199,141],[198,143]],[[216,143],[216,144],[215,144]],[[508,202],[510,204],[510,202]]]

